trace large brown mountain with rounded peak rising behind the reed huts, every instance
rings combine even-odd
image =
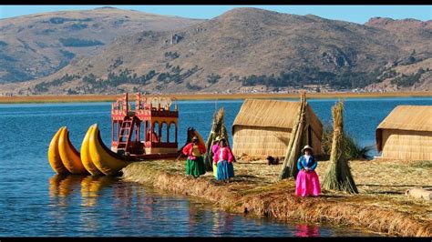
[[[22,88],[52,94],[208,92],[257,85],[354,88],[396,77],[391,71],[396,66],[429,63],[430,21],[390,21],[392,27],[382,22],[374,18],[358,25],[236,8],[176,32],[119,37],[98,55],[76,58]],[[413,78],[429,80],[430,70],[423,71]],[[398,79],[401,86],[413,82],[404,78]]]

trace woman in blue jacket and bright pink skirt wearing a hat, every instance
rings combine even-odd
[[[295,180],[295,195],[297,196],[318,196],[321,193],[320,181],[316,175],[315,168],[318,164],[312,155],[313,148],[304,146],[302,149],[303,156],[297,161],[299,173]]]

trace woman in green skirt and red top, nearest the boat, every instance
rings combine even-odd
[[[202,155],[206,152],[204,145],[200,144],[198,137],[192,137],[192,143],[184,146],[183,154],[186,159],[186,175],[198,177],[205,174],[204,159]]]

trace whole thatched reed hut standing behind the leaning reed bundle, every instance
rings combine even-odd
[[[232,125],[232,152],[235,156],[285,156],[300,102],[246,99]],[[308,126],[303,137],[314,147],[314,154],[323,154],[323,125],[307,106]]]

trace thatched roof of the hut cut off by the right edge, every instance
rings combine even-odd
[[[376,127],[376,149],[383,149],[383,129],[432,132],[431,116],[432,106],[396,106]]]

